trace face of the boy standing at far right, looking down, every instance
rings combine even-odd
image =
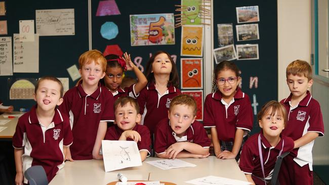
[[[304,75],[288,75],[286,82],[289,86],[293,98],[303,98],[306,96],[307,89],[312,86],[313,80],[308,80]]]

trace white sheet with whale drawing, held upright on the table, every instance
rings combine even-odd
[[[105,171],[142,166],[141,156],[134,141],[102,141]]]

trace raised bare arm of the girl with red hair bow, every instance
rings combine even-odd
[[[129,71],[134,71],[136,74],[136,77],[138,79],[138,82],[134,86],[134,91],[136,95],[139,94],[139,92],[146,86],[147,84],[147,79],[145,75],[136,67],[136,65],[132,62],[130,58],[130,54],[128,55],[127,52],[124,54],[124,59],[126,60],[127,63],[127,70]]]

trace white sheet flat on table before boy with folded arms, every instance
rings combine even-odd
[[[161,159],[161,160],[146,161],[146,162],[163,170],[196,166],[195,164],[188,163],[180,159]]]

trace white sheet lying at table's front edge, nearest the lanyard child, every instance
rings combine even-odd
[[[242,181],[242,180],[235,180],[235,179],[230,179],[230,178],[224,178],[224,177],[219,177],[219,176],[205,176],[201,178],[195,178],[189,181],[186,181],[186,183],[191,183],[191,184],[197,184],[197,185],[209,185],[209,184],[214,184],[214,185],[246,185],[246,184],[251,184],[250,182]]]

